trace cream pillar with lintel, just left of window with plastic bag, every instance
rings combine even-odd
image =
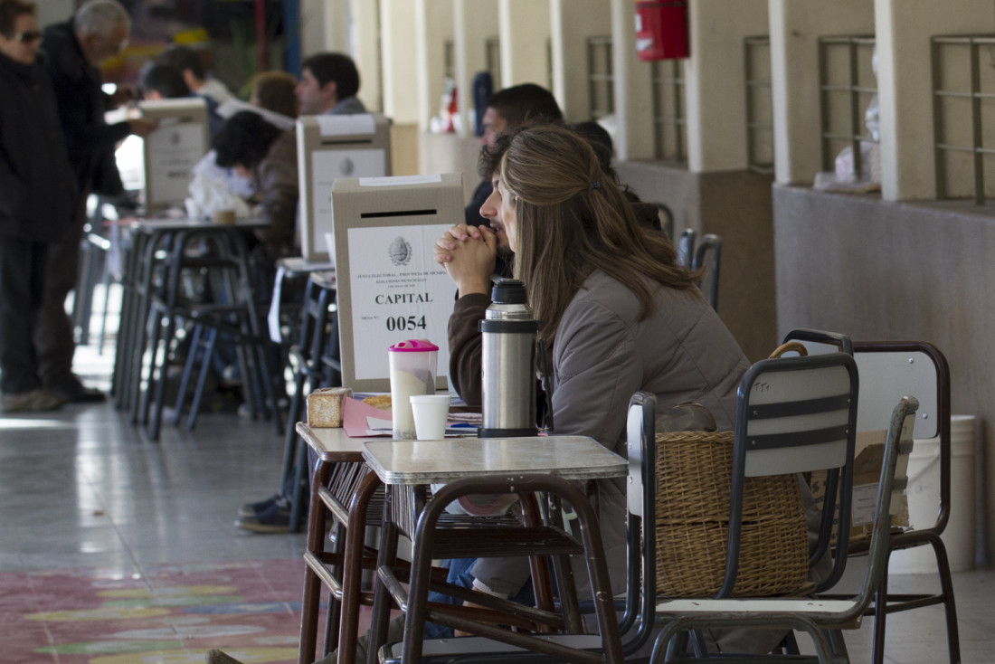
[[[819,38],[874,34],[874,0],[770,0],[768,11],[775,177],[811,185],[822,170]]]

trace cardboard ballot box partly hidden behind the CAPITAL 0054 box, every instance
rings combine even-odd
[[[300,252],[305,261],[329,258],[331,184],[340,177],[390,175],[390,119],[383,115],[298,117]]]

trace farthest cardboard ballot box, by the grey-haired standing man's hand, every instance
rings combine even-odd
[[[182,205],[193,167],[210,149],[207,104],[201,98],[142,102],[142,117],[159,128],[142,141],[143,200],[149,210]]]

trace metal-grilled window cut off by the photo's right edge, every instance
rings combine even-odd
[[[937,198],[995,195],[995,35],[933,37]]]

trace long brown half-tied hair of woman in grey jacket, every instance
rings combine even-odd
[[[517,132],[501,158],[500,178],[517,199],[515,277],[525,283],[547,343],[595,270],[636,295],[641,320],[653,311],[654,282],[679,290],[696,285],[667,238],[637,224],[594,150],[569,129],[544,124]]]

